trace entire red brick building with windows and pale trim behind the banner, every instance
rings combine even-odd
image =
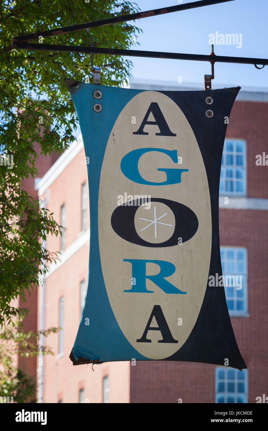
[[[146,90],[182,90],[132,83]],[[198,89],[198,88],[192,88]],[[55,356],[38,362],[40,403],[256,403],[268,395],[268,92],[238,94],[227,128],[219,196],[224,275],[241,277],[225,287],[242,372],[195,362],[135,361],[73,366],[69,354],[80,322],[89,262],[89,197],[82,141],[73,143],[38,183],[38,195],[67,230],[48,237],[61,262],[38,288],[39,328],[61,326],[44,343]],[[264,156],[265,157],[265,156]],[[265,158],[264,158],[265,159]],[[267,161],[268,164],[268,161]],[[239,278],[240,279],[240,278]]]

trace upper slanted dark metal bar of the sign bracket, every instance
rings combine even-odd
[[[194,9],[201,6],[210,6],[218,3],[226,3],[234,0],[201,0],[191,3],[180,4],[176,6],[161,7],[160,9],[147,10],[146,12],[131,13],[129,15],[114,16],[113,18],[100,19],[98,21],[84,22],[83,24],[69,25],[68,27],[54,28],[54,30],[37,31],[36,33],[23,34],[15,36],[12,40],[12,47],[15,42],[31,41],[39,36],[54,36],[56,34],[65,34],[70,31],[86,30],[87,28],[102,27],[103,25],[115,24],[117,22],[132,21],[134,19],[147,18],[148,16],[163,15],[170,12],[179,12],[180,10]]]

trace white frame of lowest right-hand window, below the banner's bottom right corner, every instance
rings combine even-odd
[[[228,371],[234,371],[234,380],[233,379],[228,379]],[[219,379],[218,378],[218,371],[223,371],[224,372],[224,378],[223,379]],[[219,403],[219,398],[220,397],[224,397],[224,403],[226,404],[233,404],[233,403],[228,403],[227,399],[228,397],[234,397],[234,404],[237,403],[237,397],[243,397],[244,399],[244,403],[242,404],[246,404],[248,402],[248,370],[247,369],[243,369],[242,372],[244,373],[245,378],[243,380],[239,380],[239,373],[241,373],[240,370],[234,369],[234,368],[230,368],[230,367],[216,367],[215,369],[215,403]],[[224,391],[223,392],[218,392],[218,383],[224,383]],[[234,392],[228,392],[228,383],[234,383]],[[242,392],[238,392],[238,383],[244,383],[245,385],[245,391]],[[240,403],[238,403],[240,404]]]

